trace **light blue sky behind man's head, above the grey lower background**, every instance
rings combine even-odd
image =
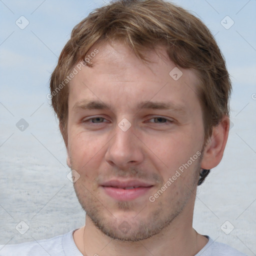
[[[215,35],[232,79],[233,122],[244,106],[240,118],[246,111],[251,113],[256,104],[251,98],[256,92],[256,0],[173,2],[200,17]],[[9,121],[3,116],[28,118],[41,104],[43,107],[49,104],[46,99],[49,76],[71,29],[103,3],[103,0],[0,1],[0,112],[4,125],[8,126]],[[29,21],[24,29],[15,24],[21,15]],[[220,24],[226,15],[234,21],[229,29]],[[244,120],[248,121],[247,117]],[[255,126],[255,119],[249,122]],[[5,131],[3,139],[8,137]]]

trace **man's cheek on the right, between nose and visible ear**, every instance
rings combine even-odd
[[[186,132],[163,134],[157,139],[151,137],[145,143],[152,151],[148,151],[149,161],[161,175],[163,183],[171,179],[168,191],[178,192],[183,189],[182,184],[195,182],[201,149],[198,139],[191,129],[187,129]]]

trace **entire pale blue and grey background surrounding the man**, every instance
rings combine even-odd
[[[198,188],[194,227],[256,255],[256,0],[172,2],[211,30],[233,86],[233,126],[223,160]],[[65,147],[46,95],[71,29],[102,4],[0,0],[0,244],[51,237],[84,223],[66,177]],[[18,129],[18,121],[28,127]],[[29,226],[23,235],[15,229],[21,220]],[[229,234],[220,228],[226,220],[234,226]]]

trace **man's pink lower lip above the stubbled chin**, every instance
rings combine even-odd
[[[102,186],[105,193],[112,198],[120,201],[129,201],[133,200],[141,195],[147,193],[152,186],[147,187],[136,187],[132,189],[122,189],[112,186]]]

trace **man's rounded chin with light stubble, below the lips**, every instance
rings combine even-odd
[[[124,205],[122,203],[122,206]],[[160,233],[178,215],[175,213],[164,216],[161,207],[147,215],[145,213],[140,214],[139,210],[129,213],[127,208],[126,211],[119,209],[117,214],[104,212],[102,208],[100,210],[86,208],[86,215],[103,234],[112,239],[127,242],[144,240]]]

